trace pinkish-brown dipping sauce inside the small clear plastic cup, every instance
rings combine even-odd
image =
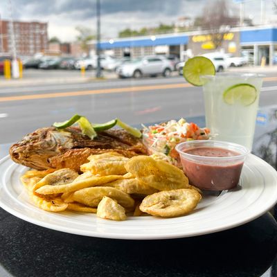
[[[199,147],[182,150],[184,153],[202,157],[235,157],[240,153],[217,147]],[[243,161],[224,161],[211,159],[197,162],[180,155],[181,163],[190,184],[206,190],[229,190],[238,185]]]

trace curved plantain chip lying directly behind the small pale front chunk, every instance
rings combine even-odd
[[[71,199],[87,206],[97,207],[104,196],[116,200],[124,208],[130,209],[134,207],[134,199],[132,197],[117,188],[109,186],[96,186],[77,190],[72,194]]]

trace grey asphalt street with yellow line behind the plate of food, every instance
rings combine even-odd
[[[266,74],[260,107],[276,104],[275,69],[256,71]],[[78,71],[44,71],[44,76],[38,77],[40,73],[35,72],[35,76],[30,74],[27,78],[28,83],[19,80],[16,85],[6,82],[3,86],[1,80],[0,143],[18,141],[28,132],[66,120],[76,113],[87,116],[93,123],[117,117],[132,125],[204,115],[202,89],[192,87],[177,73],[170,78],[120,80],[109,75],[97,80],[90,71],[82,81],[75,79],[76,73],[80,74]],[[46,80],[37,82],[37,78]],[[62,78],[62,82],[56,81]],[[71,78],[71,82],[66,78]]]

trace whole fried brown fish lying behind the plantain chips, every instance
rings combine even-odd
[[[118,152],[125,157],[146,154],[141,139],[124,129],[109,129],[98,132],[93,140],[82,134],[79,127],[56,129],[45,127],[28,134],[10,148],[10,157],[15,163],[29,168],[70,168],[79,171],[91,154]]]

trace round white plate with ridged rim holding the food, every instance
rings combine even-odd
[[[90,213],[42,211],[30,202],[19,181],[26,170],[9,157],[0,161],[0,206],[33,224],[91,237],[151,240],[203,235],[249,222],[277,202],[276,170],[252,154],[244,163],[240,186],[220,195],[204,195],[193,213],[175,218],[128,217],[123,222]]]

